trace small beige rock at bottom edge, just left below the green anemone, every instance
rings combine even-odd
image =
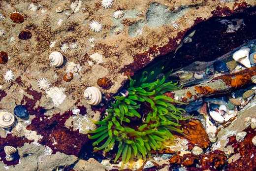
[[[90,158],[89,160],[79,160],[75,166],[75,171],[105,171],[103,166],[98,163],[94,158]]]

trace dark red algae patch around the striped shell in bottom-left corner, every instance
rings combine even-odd
[[[4,146],[10,145],[15,148],[22,147],[25,142],[32,142],[31,140],[25,138],[25,137],[13,137],[11,134],[8,134],[5,138],[0,137],[0,161],[2,161],[5,165],[17,165],[19,163],[20,156],[16,152],[14,154],[14,160],[13,161],[6,161],[5,160],[5,152],[3,150]]]

